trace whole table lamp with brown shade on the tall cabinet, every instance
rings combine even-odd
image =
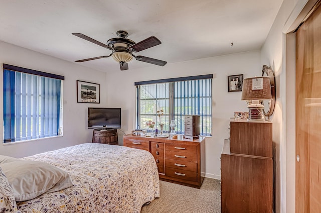
[[[264,121],[262,100],[272,99],[269,77],[253,77],[243,79],[242,98],[249,109],[248,121]]]

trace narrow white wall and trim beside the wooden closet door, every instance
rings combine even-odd
[[[276,105],[271,118],[276,178],[275,212],[295,212],[295,66],[289,61],[295,57],[295,38],[286,36],[282,30],[296,5],[304,5],[305,2],[283,1],[261,49],[261,64],[271,65],[276,75]]]

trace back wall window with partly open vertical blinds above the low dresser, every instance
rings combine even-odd
[[[164,131],[170,131],[175,120],[175,131],[184,134],[184,115],[201,116],[201,134],[212,135],[212,78],[200,75],[154,81],[135,82],[137,94],[136,128],[147,129],[146,122],[159,128],[157,111],[163,110]]]

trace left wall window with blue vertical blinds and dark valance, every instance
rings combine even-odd
[[[4,143],[62,134],[62,80],[4,64]]]

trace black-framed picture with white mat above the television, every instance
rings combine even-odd
[[[77,102],[99,103],[99,84],[77,80]]]

